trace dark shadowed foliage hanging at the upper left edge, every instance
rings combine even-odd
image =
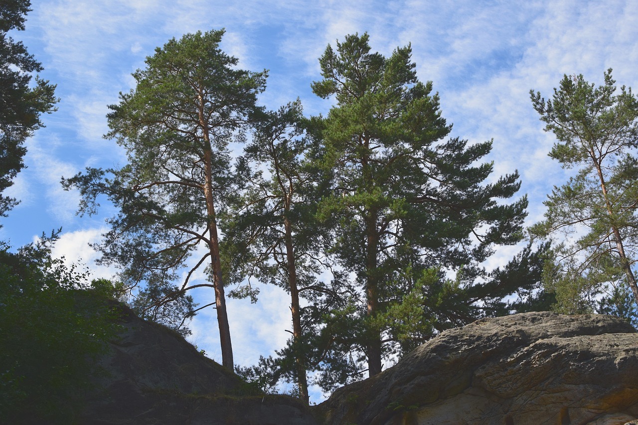
[[[43,124],[40,115],[55,110],[55,85],[35,77],[41,64],[20,41],[8,36],[13,29],[24,30],[29,0],[6,0],[0,4],[0,216],[17,205],[18,200],[2,195],[13,178],[24,168],[24,140]]]

